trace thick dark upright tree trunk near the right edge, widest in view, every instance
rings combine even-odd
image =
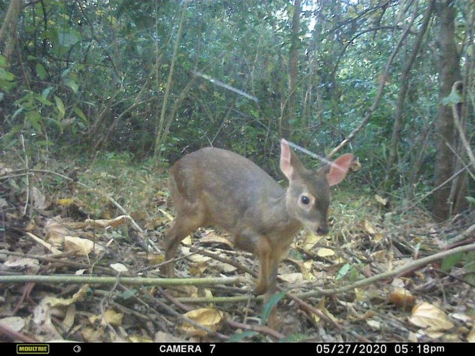
[[[439,1],[436,4],[439,20],[437,58],[439,73],[439,102],[450,94],[452,84],[460,79],[460,56],[455,44],[455,8],[451,1]],[[440,105],[436,124],[436,146],[434,185],[438,187],[453,173],[454,157],[451,148],[455,141],[453,116],[450,105]],[[450,146],[450,147],[449,147]],[[434,192],[432,214],[438,221],[449,218],[451,202],[449,200],[451,186],[444,185]]]

